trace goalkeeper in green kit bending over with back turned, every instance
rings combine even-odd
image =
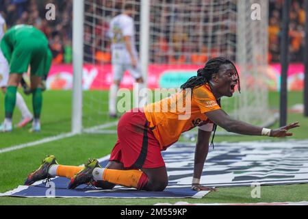
[[[48,68],[48,40],[42,31],[30,25],[16,25],[9,29],[1,40],[1,50],[10,63],[10,75],[5,94],[5,120],[0,131],[12,131],[12,116],[16,103],[17,86],[23,73],[31,69],[31,93],[34,120],[31,131],[40,131],[42,109],[42,75]]]

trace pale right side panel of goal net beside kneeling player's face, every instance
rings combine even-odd
[[[261,20],[251,18],[251,6],[258,3]],[[250,13],[247,13],[250,12]],[[268,109],[266,70],[268,67],[268,1],[238,1],[238,43],[236,62],[241,74],[243,94],[235,118],[254,123],[272,123]]]

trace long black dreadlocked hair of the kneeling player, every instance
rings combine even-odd
[[[209,60],[203,68],[198,69],[197,71],[197,76],[191,77],[183,83],[181,86],[181,89],[185,90],[190,88],[191,93],[194,88],[198,88],[200,86],[203,86],[205,83],[209,83],[211,80],[212,75],[216,74],[220,70],[220,66],[224,64],[231,64],[235,71],[236,75],[238,76],[238,91],[241,92],[241,87],[240,87],[240,76],[238,75],[238,70],[236,69],[235,65],[231,60],[226,59],[225,57],[214,57],[211,60]],[[211,88],[211,86],[209,86]],[[219,106],[220,105],[220,99],[217,100],[217,103]],[[211,138],[211,146],[213,146],[214,149],[214,138],[215,138],[215,133],[216,133],[217,125],[214,124],[213,128],[213,137]]]

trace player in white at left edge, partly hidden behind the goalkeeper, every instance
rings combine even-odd
[[[0,42],[1,39],[3,38],[3,35],[5,34],[5,31],[6,31],[5,20],[0,14]],[[0,49],[0,88],[3,94],[5,94],[7,90],[6,87],[8,86],[9,71],[10,71],[10,66],[8,64],[8,61],[5,59]],[[31,112],[29,112],[25,100],[23,99],[23,96],[21,96],[19,92],[16,92],[16,105],[18,109],[21,111],[21,121],[16,126],[24,127],[25,125],[31,122],[33,116]],[[5,129],[4,127],[0,127],[0,130],[12,131],[12,127],[7,127]]]

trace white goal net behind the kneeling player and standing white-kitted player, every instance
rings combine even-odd
[[[179,88],[209,58],[227,57],[240,72],[242,92],[235,92],[231,99],[223,98],[222,108],[233,118],[255,125],[273,122],[266,87],[268,1],[151,0],[146,26],[141,25],[142,1],[129,2],[134,5],[137,50],[149,48],[144,75],[149,88]],[[110,20],[124,6],[125,1],[84,0],[82,126],[87,131],[97,131],[102,124],[114,121],[108,113],[112,83],[108,29]],[[146,45],[140,43],[142,28],[149,29]],[[122,88],[131,89],[132,84],[132,77],[125,73]]]

